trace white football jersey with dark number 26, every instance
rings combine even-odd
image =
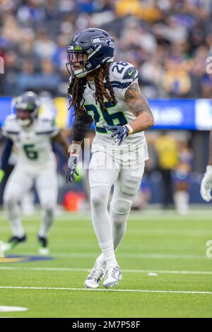
[[[133,163],[136,165],[148,159],[148,149],[144,132],[141,131],[124,138],[121,146],[117,146],[117,143],[114,143],[114,138],[111,137],[112,131],[107,131],[103,127],[103,124],[123,126],[136,119],[135,115],[129,110],[124,95],[131,84],[138,84],[138,71],[128,62],[113,62],[110,66],[110,82],[114,89],[117,104],[112,105],[111,102],[108,102],[108,100],[105,99],[105,107],[107,108],[107,111],[102,111],[100,105],[97,105],[95,102],[94,81],[89,81],[89,83],[87,83],[86,89],[83,93],[85,99],[84,107],[95,121],[95,138],[93,140],[92,152],[107,149],[107,153],[108,150],[112,150],[113,153],[116,153],[117,155],[123,153],[124,159],[123,157],[118,158],[119,160],[122,160],[123,164],[124,160],[127,162],[129,159],[129,156],[127,158],[129,150],[130,153],[134,151],[131,158],[134,159]]]

